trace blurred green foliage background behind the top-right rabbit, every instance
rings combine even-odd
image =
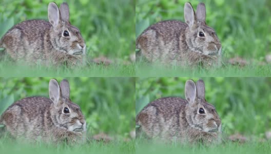
[[[164,20],[184,21],[183,7],[187,0],[136,0],[136,36],[149,25]],[[204,0],[189,1],[196,9],[206,5],[206,23],[214,28],[226,58],[241,56],[264,61],[270,53],[271,1],[268,0]]]

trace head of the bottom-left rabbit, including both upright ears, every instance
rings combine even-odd
[[[86,131],[86,121],[80,107],[70,101],[70,88],[67,80],[62,80],[60,85],[56,80],[49,82],[49,97],[53,104],[50,114],[56,126],[73,132]]]

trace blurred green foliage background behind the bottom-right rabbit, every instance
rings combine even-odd
[[[184,97],[190,78],[137,78],[135,112],[162,97]],[[199,78],[191,78],[198,81]],[[215,105],[226,134],[263,138],[271,130],[271,78],[202,78],[206,100]]]

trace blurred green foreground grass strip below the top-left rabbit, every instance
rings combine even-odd
[[[2,65],[1,65],[2,64]],[[16,77],[16,76],[134,76],[133,65],[112,64],[105,65],[91,65],[78,68],[63,67],[45,67],[45,66],[16,66],[0,63],[0,76],[3,77]]]

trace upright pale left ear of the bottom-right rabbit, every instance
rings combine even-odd
[[[192,80],[187,80],[185,83],[185,99],[188,103],[194,103],[197,95],[197,88],[195,83]]]

